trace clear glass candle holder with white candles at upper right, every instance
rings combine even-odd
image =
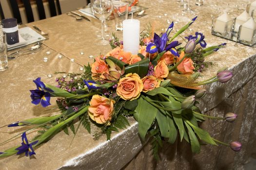
[[[249,22],[254,21],[252,19]],[[229,22],[221,23],[216,17],[212,21],[212,34],[250,47],[256,44],[256,28],[247,27],[247,25],[250,25],[248,23],[240,25],[237,31],[235,25],[236,18]]]

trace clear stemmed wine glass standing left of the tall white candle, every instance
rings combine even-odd
[[[91,0],[91,10],[95,17],[101,21],[101,41],[100,45],[107,45],[108,41],[104,34],[104,22],[112,14],[112,0]]]

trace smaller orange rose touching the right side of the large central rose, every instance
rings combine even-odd
[[[146,76],[143,77],[142,83],[143,83],[143,92],[151,91],[157,87],[160,86],[160,82],[158,81],[156,77],[154,76]]]

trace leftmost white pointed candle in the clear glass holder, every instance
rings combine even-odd
[[[217,17],[214,30],[220,34],[224,34],[225,31],[231,31],[232,20],[233,19],[225,12],[221,16]]]

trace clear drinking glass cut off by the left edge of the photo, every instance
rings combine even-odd
[[[0,31],[0,71],[8,68],[6,33]]]

